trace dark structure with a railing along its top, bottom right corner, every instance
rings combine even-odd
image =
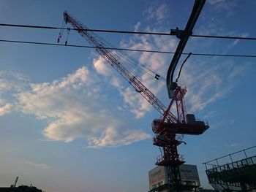
[[[256,191],[256,155],[249,155],[250,150],[256,152],[256,146],[203,163],[216,191]],[[238,155],[241,158],[234,160]],[[220,164],[223,159],[230,162]]]

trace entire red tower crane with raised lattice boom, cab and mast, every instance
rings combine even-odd
[[[80,23],[78,19],[64,12],[65,23],[70,23],[76,31],[84,38],[90,45],[94,46],[97,53],[105,58],[105,61],[113,66],[116,71],[124,77],[125,80],[135,88],[135,91],[140,93],[160,114],[162,119],[155,119],[152,122],[152,131],[154,131],[153,144],[160,147],[161,155],[157,158],[157,165],[166,166],[168,171],[169,183],[173,183],[173,188],[178,188],[181,183],[178,166],[184,164],[184,158],[178,154],[177,147],[182,143],[181,137],[176,137],[176,134],[203,134],[208,129],[208,123],[204,121],[196,121],[195,115],[187,114],[184,110],[184,95],[187,92],[186,88],[176,86],[173,90],[168,107],[165,107],[157,96],[146,88],[140,79],[121,62],[121,58],[115,53],[113,45],[110,47],[109,43],[99,37],[94,32],[90,31],[85,25]],[[58,39],[59,42],[59,39]],[[66,42],[67,43],[67,42]],[[170,109],[176,108],[176,114]],[[169,190],[170,191],[170,190]]]

